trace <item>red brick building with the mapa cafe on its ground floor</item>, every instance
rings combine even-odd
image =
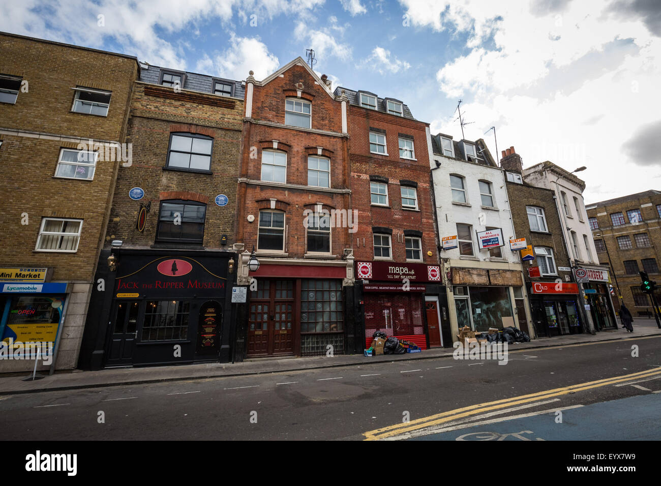
[[[375,331],[441,346],[434,206],[430,191],[429,125],[402,101],[337,88],[348,98],[356,262],[354,351]]]

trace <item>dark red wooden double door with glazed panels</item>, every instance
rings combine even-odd
[[[248,316],[248,356],[293,354],[293,280],[259,279]]]

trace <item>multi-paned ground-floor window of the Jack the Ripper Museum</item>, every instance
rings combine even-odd
[[[147,301],[141,341],[180,341],[188,337],[188,302]]]

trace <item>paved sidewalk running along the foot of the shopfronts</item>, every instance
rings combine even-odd
[[[640,321],[640,322],[639,322]],[[635,319],[634,332],[624,329],[601,331],[596,335],[578,334],[539,338],[530,343],[516,343],[510,351],[571,344],[635,339],[661,335],[661,329],[651,326],[648,319]],[[42,380],[24,382],[24,375],[0,375],[0,396],[19,393],[38,393],[67,389],[86,389],[134,384],[163,383],[176,381],[204,380],[229,376],[251,376],[269,373],[336,368],[339,366],[364,366],[379,362],[418,361],[435,358],[451,358],[453,348],[432,348],[419,353],[366,357],[362,354],[342,356],[317,356],[310,358],[253,358],[240,363],[182,364],[180,366],[148,366],[136,368],[106,368],[100,371],[73,370],[56,372]]]

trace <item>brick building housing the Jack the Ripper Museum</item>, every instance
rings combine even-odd
[[[231,360],[243,93],[239,81],[141,64],[85,366]]]

